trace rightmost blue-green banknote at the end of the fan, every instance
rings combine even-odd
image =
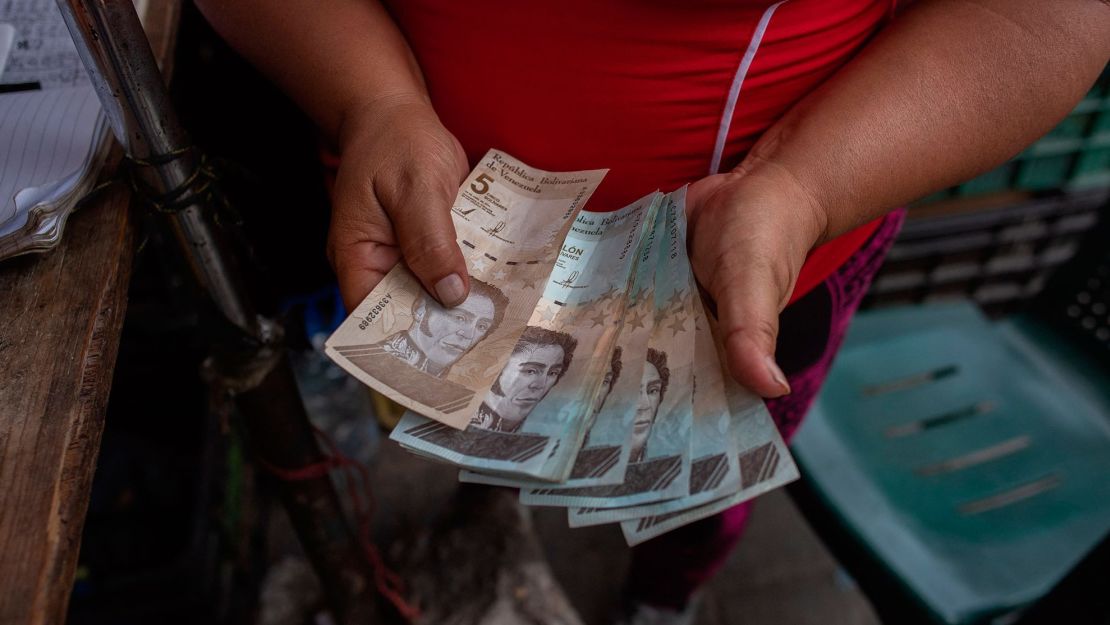
[[[710,319],[710,327],[717,329]],[[719,339],[719,334],[717,334]],[[715,341],[720,363],[727,362],[719,340]],[[653,514],[620,523],[629,545],[637,545],[676,527],[706,518],[798,478],[798,467],[783,441],[763,400],[737,384],[722,365],[725,397],[733,414],[737,445],[739,483],[736,492],[687,510]]]

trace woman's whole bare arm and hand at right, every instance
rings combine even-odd
[[[692,187],[690,256],[729,369],[764,396],[806,254],[988,171],[1058,123],[1110,59],[1100,0],[919,1],[803,99],[734,171]]]

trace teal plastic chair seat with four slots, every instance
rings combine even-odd
[[[968,303],[860,313],[795,457],[934,621],[991,622],[1110,534],[1110,382],[1084,359]]]

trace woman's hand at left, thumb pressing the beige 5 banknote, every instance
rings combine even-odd
[[[453,306],[470,289],[451,204],[470,168],[458,140],[418,98],[383,98],[344,118],[327,258],[349,311],[402,258]]]

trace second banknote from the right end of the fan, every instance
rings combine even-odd
[[[579,525],[662,516],[695,507],[739,490],[736,432],[746,414],[734,423],[725,396],[725,380],[717,360],[714,335],[700,301],[695,302],[694,425],[690,430],[689,494],[664,502],[617,508],[594,508],[575,515]]]

